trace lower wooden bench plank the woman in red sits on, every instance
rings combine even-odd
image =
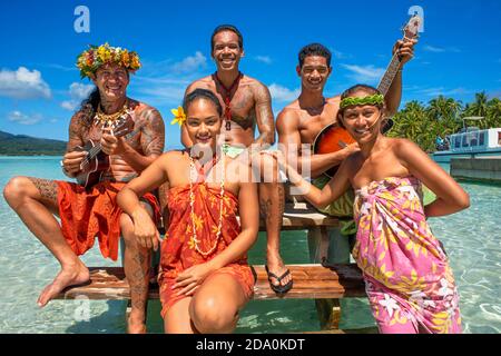
[[[276,298],[345,298],[364,297],[365,285],[356,265],[338,265],[331,268],[321,265],[287,265],[294,276],[294,286],[278,296],[271,288],[264,266],[253,266],[257,276],[254,299]],[[90,268],[91,281],[63,290],[57,299],[129,299],[129,285],[120,267]],[[158,285],[151,285],[149,298],[158,299]]]

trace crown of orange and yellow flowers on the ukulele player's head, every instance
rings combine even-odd
[[[135,51],[111,47],[108,43],[99,47],[89,46],[89,49],[81,52],[77,59],[81,78],[90,77],[99,67],[107,63],[119,65],[128,71],[136,71],[141,67],[139,56]]]

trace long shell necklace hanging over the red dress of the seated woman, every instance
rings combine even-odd
[[[222,154],[222,165],[223,165],[223,178],[220,180],[220,190],[219,190],[219,224],[217,225],[217,230],[216,230],[216,239],[214,241],[214,246],[208,250],[208,251],[203,251],[200,246],[198,245],[200,241],[197,239],[197,228],[196,228],[196,224],[195,224],[195,194],[193,192],[193,180],[194,177],[197,177],[197,172],[195,169],[195,162],[191,158],[191,155],[189,155],[189,207],[191,208],[191,214],[190,214],[190,218],[191,218],[191,230],[193,230],[193,235],[191,235],[191,239],[195,243],[195,249],[197,250],[198,254],[200,254],[204,257],[209,256],[210,254],[213,254],[216,250],[217,244],[219,243],[220,239],[220,233],[223,229],[223,202],[224,202],[224,196],[225,196],[225,154]],[[214,168],[214,166],[213,166]],[[196,178],[195,178],[196,179]]]

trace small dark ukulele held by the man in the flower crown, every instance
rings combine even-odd
[[[141,129],[141,126],[132,131],[134,120],[129,115],[121,117],[112,126],[112,132],[116,137],[125,136],[129,140]],[[80,164],[80,172],[78,174],[77,182],[86,189],[98,184],[102,174],[109,168],[109,156],[102,151],[100,141],[88,140],[84,146],[77,146],[77,151],[87,151],[87,157]]]

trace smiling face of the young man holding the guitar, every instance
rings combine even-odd
[[[322,91],[332,72],[327,59],[322,56],[307,56],[304,59],[303,67],[297,67],[296,70],[303,88],[311,91]]]

